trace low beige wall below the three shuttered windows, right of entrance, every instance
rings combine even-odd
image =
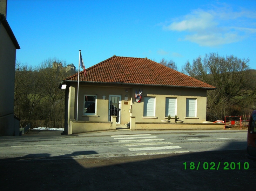
[[[131,130],[216,130],[224,129],[223,123],[147,123],[135,122]]]

